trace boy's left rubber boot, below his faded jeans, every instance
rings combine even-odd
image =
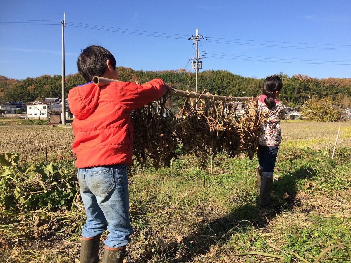
[[[99,262],[100,235],[94,237],[82,237],[80,243],[80,263]]]

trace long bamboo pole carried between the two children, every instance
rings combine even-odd
[[[107,79],[105,77],[93,77],[93,83],[98,86],[106,86],[110,82],[118,82],[119,80]],[[201,99],[201,100],[223,100],[223,101],[249,101],[252,100],[252,97],[232,97],[232,96],[220,96],[220,95],[213,95],[210,93],[207,94],[200,94],[196,92],[188,92],[179,89],[173,89],[169,93],[172,96],[179,96],[179,97],[190,97],[193,99]],[[258,100],[258,98],[254,98],[254,100]]]

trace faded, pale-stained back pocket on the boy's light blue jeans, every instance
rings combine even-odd
[[[115,188],[113,169],[90,172],[89,179],[91,190],[100,194],[107,194]]]

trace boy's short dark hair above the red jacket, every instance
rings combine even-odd
[[[105,73],[107,60],[110,60],[113,69],[116,69],[116,60],[106,48],[89,46],[80,51],[77,59],[78,72],[87,82],[92,81],[94,76]]]

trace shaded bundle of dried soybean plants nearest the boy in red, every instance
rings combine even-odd
[[[169,97],[164,95],[131,114],[134,130],[133,154],[141,167],[147,157],[151,158],[156,170],[161,165],[169,167],[171,159],[176,158],[174,150],[179,148],[176,134],[173,133],[176,119],[165,107],[167,99]]]

